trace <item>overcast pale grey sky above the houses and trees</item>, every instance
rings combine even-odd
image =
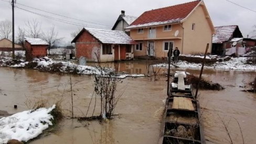
[[[82,26],[111,29],[118,16],[121,14],[121,10],[125,10],[125,15],[138,17],[147,10],[191,1],[193,0],[17,0],[17,8],[15,8],[15,29],[17,29],[18,26],[24,27],[25,21],[27,20],[37,19],[41,21],[41,27],[44,31],[49,30],[52,25],[55,25],[56,30],[59,32],[59,37],[65,38],[63,39],[64,43],[68,43],[72,40],[70,33],[77,31],[77,29],[82,29]],[[205,0],[204,2],[215,27],[238,25],[243,37],[246,38],[248,34],[250,37],[250,32],[253,30],[252,27],[256,25],[255,0]],[[31,11],[32,13],[23,9]],[[37,9],[66,17],[60,17]],[[58,20],[65,20],[66,22],[76,22],[76,25],[82,26],[70,25],[33,13],[57,18]],[[82,21],[69,19],[67,17]],[[5,19],[12,20],[12,6],[10,5],[10,0],[0,0],[0,21]]]

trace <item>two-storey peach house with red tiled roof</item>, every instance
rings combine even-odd
[[[138,42],[134,57],[158,58],[166,57],[168,50],[174,47],[178,47],[181,54],[205,53],[215,33],[204,1],[145,11],[125,30]]]

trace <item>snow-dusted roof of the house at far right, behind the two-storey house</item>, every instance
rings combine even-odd
[[[222,43],[231,40],[236,30],[239,31],[239,28],[236,25],[215,27],[216,33],[214,37],[212,37],[212,43]],[[242,37],[242,34],[240,37]]]

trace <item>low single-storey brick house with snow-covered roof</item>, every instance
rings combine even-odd
[[[95,28],[83,28],[71,43],[75,43],[76,58],[83,56],[93,62],[131,59],[136,44],[123,31]]]

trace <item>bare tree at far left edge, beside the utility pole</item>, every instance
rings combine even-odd
[[[9,20],[0,21],[0,38],[12,38],[12,22]]]

